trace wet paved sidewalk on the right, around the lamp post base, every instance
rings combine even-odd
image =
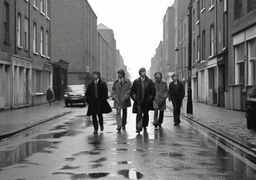
[[[172,102],[167,101],[167,106],[173,108]],[[186,113],[187,99],[183,99],[182,114],[192,117],[202,124],[222,129],[251,144],[256,145],[256,130],[247,129],[245,112],[227,110],[216,106],[193,101],[193,114]]]

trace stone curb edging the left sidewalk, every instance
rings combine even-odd
[[[12,131],[12,132],[4,134],[4,135],[0,135],[0,141],[4,141],[4,139],[6,139],[6,138],[12,137],[12,136],[17,135],[19,133],[22,133],[23,131],[26,131],[26,130],[31,129],[33,127],[39,126],[41,124],[44,124],[44,123],[46,123],[48,121],[51,121],[51,120],[54,120],[54,119],[56,119],[58,117],[63,117],[63,116],[65,116],[67,114],[70,114],[70,113],[73,113],[73,111],[68,111],[68,112],[64,112],[64,113],[61,113],[61,114],[57,114],[54,117],[49,117],[49,118],[46,118],[46,119],[39,120],[39,121],[37,121],[36,123],[34,123],[34,124],[30,125],[30,126],[23,127],[21,129],[18,129],[16,131]]]

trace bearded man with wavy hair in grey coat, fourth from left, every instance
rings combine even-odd
[[[168,86],[161,72],[155,72],[155,99],[153,102],[155,113],[154,113],[154,126],[162,127],[164,120],[164,111],[166,110],[166,98],[168,97]],[[158,117],[159,111],[159,117]]]

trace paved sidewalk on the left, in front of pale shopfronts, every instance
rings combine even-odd
[[[43,120],[68,111],[70,109],[64,107],[63,101],[54,102],[52,106],[47,103],[29,108],[2,111],[0,112],[0,136],[40,123]]]

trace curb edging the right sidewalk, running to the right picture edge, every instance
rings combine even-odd
[[[173,108],[170,108],[168,106],[166,106],[166,107],[173,110]],[[195,123],[199,126],[202,126],[206,129],[210,130],[212,133],[215,133],[224,139],[228,139],[229,141],[240,145],[241,147],[245,148],[246,150],[250,151],[251,153],[253,153],[256,156],[256,145],[255,144],[249,143],[248,141],[241,139],[240,137],[238,137],[236,135],[232,135],[229,132],[224,131],[218,127],[208,125],[207,123],[201,123],[201,122],[197,121],[196,119],[194,119],[193,117],[189,117],[188,115],[185,115],[184,113],[181,113],[181,116],[192,123]]]

